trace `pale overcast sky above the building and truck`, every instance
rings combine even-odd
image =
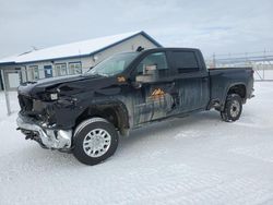
[[[0,58],[134,31],[206,57],[273,50],[273,1],[0,0]]]

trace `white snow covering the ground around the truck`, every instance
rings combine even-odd
[[[272,105],[273,83],[256,83],[239,121],[210,111],[153,124],[88,167],[25,141],[0,93],[0,204],[273,204]]]

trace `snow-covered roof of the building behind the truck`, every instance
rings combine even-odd
[[[132,32],[132,33],[119,34],[119,35],[114,35],[114,36],[106,36],[106,37],[100,37],[100,38],[93,38],[88,40],[60,45],[60,46],[44,48],[39,50],[33,50],[29,52],[24,52],[21,55],[15,55],[15,56],[0,59],[0,64],[23,63],[23,62],[34,62],[34,61],[56,60],[56,59],[62,59],[62,58],[90,56],[90,55],[94,55],[96,52],[103,51],[117,44],[120,44],[136,35],[143,35],[144,37],[149,38],[154,45],[162,47],[157,41],[155,41],[145,32],[140,31],[140,32]]]

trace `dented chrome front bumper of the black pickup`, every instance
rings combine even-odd
[[[72,130],[55,130],[37,122],[33,118],[19,113],[16,120],[19,130],[26,134],[26,138],[33,138],[46,148],[70,149]]]

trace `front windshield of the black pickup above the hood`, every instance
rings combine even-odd
[[[104,75],[112,76],[121,73],[133,61],[133,59],[139,55],[139,52],[127,52],[115,55],[97,65],[87,71],[84,74],[87,75]]]

